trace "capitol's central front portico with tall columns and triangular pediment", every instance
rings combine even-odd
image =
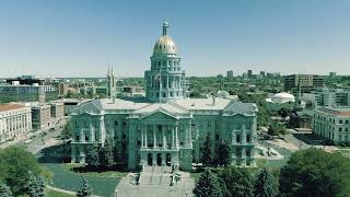
[[[145,165],[167,165],[175,171],[180,169],[190,170],[191,157],[179,160],[180,155],[187,155],[190,148],[190,123],[191,114],[183,108],[176,108],[170,104],[153,104],[141,108],[130,115],[130,124],[135,125],[135,136],[138,146],[129,154],[139,154],[138,161],[129,161],[129,167]],[[173,109],[173,111],[170,111]],[[130,149],[129,149],[130,150]]]

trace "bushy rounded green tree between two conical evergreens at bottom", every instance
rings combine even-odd
[[[225,197],[253,197],[253,183],[245,169],[229,166],[219,173]]]

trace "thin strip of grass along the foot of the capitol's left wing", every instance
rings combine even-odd
[[[100,177],[124,177],[128,174],[128,172],[119,172],[119,171],[104,171],[104,172],[92,172],[92,171],[77,171],[74,169],[84,167],[84,164],[79,163],[63,163],[63,169],[79,175],[88,175],[88,176],[100,176]]]

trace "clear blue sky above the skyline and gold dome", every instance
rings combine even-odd
[[[1,0],[0,77],[141,77],[170,21],[187,76],[350,74],[349,0]]]

